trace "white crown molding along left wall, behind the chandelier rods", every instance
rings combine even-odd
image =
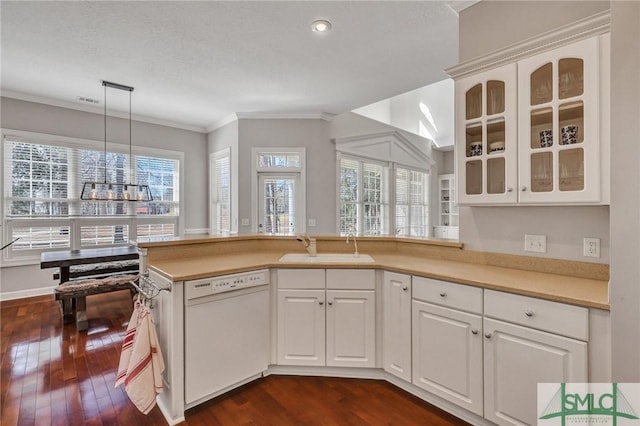
[[[15,92],[12,90],[2,89],[2,91],[0,91],[0,96],[2,96],[3,98],[11,98],[11,99],[17,99],[20,101],[34,102],[38,104],[50,105],[50,106],[55,106],[60,108],[73,109],[76,111],[90,112],[98,115],[104,114],[103,107],[92,106],[88,104],[83,105],[83,104],[79,104],[72,101],[52,99],[44,96],[31,95],[23,92]],[[123,118],[126,120],[129,119],[128,113],[120,112],[120,111],[107,111],[107,115],[109,117]],[[191,132],[205,133],[207,131],[207,129],[203,127],[190,126],[188,124],[178,123],[176,121],[162,120],[159,118],[147,117],[144,115],[132,114],[131,118],[133,121],[140,121],[143,123],[157,124],[159,126],[167,126],[167,127],[172,127],[176,129],[189,130]]]

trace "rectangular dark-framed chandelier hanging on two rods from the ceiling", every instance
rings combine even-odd
[[[85,182],[82,185],[81,200],[86,201],[153,201],[149,185],[135,183],[134,159],[131,149],[131,92],[133,87],[109,81],[102,81],[104,86],[104,181]],[[129,174],[130,183],[114,183],[107,179],[107,87],[129,92]]]

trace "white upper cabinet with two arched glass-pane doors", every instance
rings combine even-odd
[[[609,35],[558,46],[456,80],[460,204],[609,202]]]

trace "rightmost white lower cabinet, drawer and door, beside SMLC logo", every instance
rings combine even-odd
[[[485,316],[499,318],[484,318],[486,419],[535,425],[538,383],[588,381],[587,309],[485,290]]]

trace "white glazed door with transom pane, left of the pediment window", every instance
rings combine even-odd
[[[304,148],[254,148],[257,232],[304,232]]]

